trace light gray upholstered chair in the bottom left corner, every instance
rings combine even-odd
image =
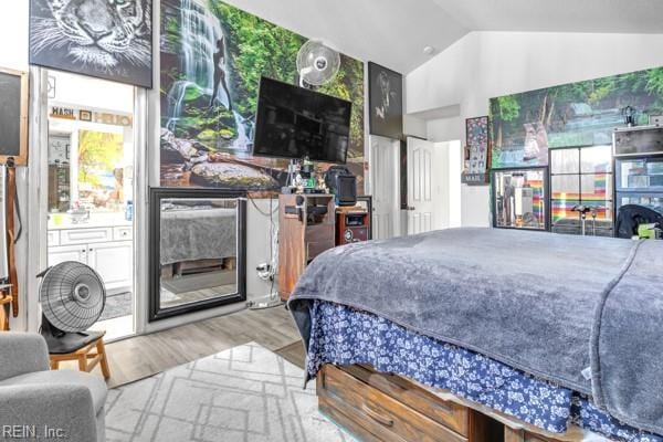
[[[106,394],[99,376],[51,371],[41,335],[0,333],[0,439],[104,441]]]

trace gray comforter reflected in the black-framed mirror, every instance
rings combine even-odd
[[[161,265],[236,256],[236,210],[193,208],[161,212],[160,252]]]

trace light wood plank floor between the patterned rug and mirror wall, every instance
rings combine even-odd
[[[109,387],[117,387],[246,343],[304,365],[299,334],[285,307],[242,311],[108,344]]]

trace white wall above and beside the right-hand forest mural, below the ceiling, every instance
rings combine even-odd
[[[432,141],[465,139],[465,118],[492,97],[663,65],[663,34],[473,32],[411,72],[407,113],[460,106],[429,120]],[[488,187],[463,186],[463,225],[490,225]]]

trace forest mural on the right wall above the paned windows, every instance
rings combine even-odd
[[[663,67],[492,98],[492,167],[545,166],[549,148],[609,145],[628,106],[639,125],[663,114]]]

